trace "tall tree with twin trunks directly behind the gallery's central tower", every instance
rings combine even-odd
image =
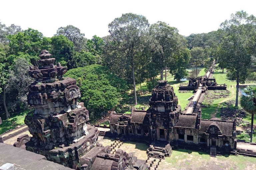
[[[155,55],[158,58],[161,68],[161,80],[163,80],[163,69],[167,66],[167,61],[170,59],[173,52],[177,51],[181,46],[184,46],[186,40],[179,35],[178,30],[170,27],[168,24],[158,21],[149,28],[149,34],[156,40],[159,47],[155,48]],[[166,71],[165,71],[166,79]]]

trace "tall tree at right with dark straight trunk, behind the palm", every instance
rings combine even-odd
[[[223,34],[219,62],[224,68],[236,74],[236,107],[238,106],[239,83],[244,83],[247,77],[247,68],[252,55],[248,42],[252,38],[253,31],[247,23],[247,16],[246,12],[238,11],[231,15],[231,20],[223,22],[219,30]]]

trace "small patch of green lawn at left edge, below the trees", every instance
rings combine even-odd
[[[11,118],[5,119],[5,115],[1,115],[2,125],[0,125],[0,134],[4,133],[9,129],[14,129],[18,125],[24,125],[25,116],[30,112],[30,110],[23,111],[21,113],[11,113]],[[4,119],[3,119],[4,118]]]

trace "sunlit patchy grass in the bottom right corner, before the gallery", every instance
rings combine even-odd
[[[256,158],[245,156],[224,155],[216,158],[208,153],[194,152],[186,149],[173,150],[170,157],[160,163],[161,170],[249,170],[256,168]]]

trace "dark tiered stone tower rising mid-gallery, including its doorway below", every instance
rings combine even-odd
[[[149,101],[152,134],[155,135],[155,139],[170,142],[181,107],[178,105],[173,87],[167,84],[167,80],[160,80],[158,83]]]

